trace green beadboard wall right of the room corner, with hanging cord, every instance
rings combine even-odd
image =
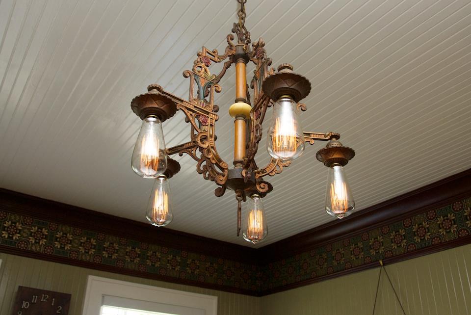
[[[386,266],[407,315],[471,314],[471,245]],[[262,297],[263,315],[370,315],[379,268]],[[381,276],[375,315],[402,315]]]

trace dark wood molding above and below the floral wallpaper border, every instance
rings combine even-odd
[[[269,244],[260,249],[235,245],[207,237],[191,235],[178,232],[171,229],[157,229],[146,223],[132,221],[125,218],[112,216],[109,214],[87,210],[63,203],[33,197],[30,195],[14,192],[0,188],[0,210],[6,210],[20,215],[34,216],[35,218],[54,221],[61,224],[68,224],[84,230],[93,230],[105,234],[138,240],[141,242],[158,244],[168,248],[175,248],[192,253],[204,254],[217,259],[225,259],[229,262],[240,262],[252,265],[257,268],[256,278],[259,283],[268,281],[263,280],[264,276],[269,275],[268,265],[275,264],[282,260],[291,264],[299,264],[293,261],[295,256],[306,254],[309,251],[326,246],[333,242],[345,240],[349,237],[358,236],[363,232],[372,229],[378,229],[394,222],[400,222],[405,218],[410,218],[419,213],[425,213],[428,210],[437,210],[441,207],[447,207],[453,202],[460,201],[471,196],[471,169],[455,174],[436,183],[429,184],[404,195],[397,196],[388,201],[382,202],[365,210],[358,211],[351,216],[331,221],[314,229],[290,236],[276,243]],[[451,208],[448,208],[451,209]],[[468,229],[469,231],[469,229]],[[438,252],[441,250],[462,246],[471,243],[471,236],[464,236],[451,241],[445,241],[440,244],[419,248],[404,254],[385,258],[385,264],[400,262],[422,255]],[[91,262],[82,262],[68,259],[67,257],[56,257],[25,251],[15,247],[2,246],[1,252],[14,255],[26,256],[35,259],[41,259],[52,262],[66,263],[85,268],[98,269],[114,273],[122,273],[136,277],[152,278],[160,281],[182,283],[185,285],[198,286],[208,289],[229,291],[253,296],[262,296],[288,289],[306,286],[319,281],[340,277],[346,274],[375,268],[378,262],[362,263],[356,267],[344,269],[313,277],[304,281],[291,281],[287,285],[276,285],[273,289],[253,287],[252,289],[237,288],[229,285],[217,285],[188,279],[179,279],[175,277],[140,272],[126,268],[118,268],[111,265],[94,264]],[[255,269],[254,269],[255,270]],[[278,270],[278,269],[276,269]],[[260,279],[259,279],[260,274]],[[238,278],[237,278],[238,279]],[[237,283],[238,280],[235,280]],[[271,283],[270,283],[271,284]]]

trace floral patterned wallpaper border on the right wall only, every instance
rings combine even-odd
[[[428,210],[262,268],[261,291],[346,271],[445,242],[469,238],[471,198]]]

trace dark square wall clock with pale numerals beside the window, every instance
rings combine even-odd
[[[43,289],[18,287],[12,315],[67,315],[71,295]]]

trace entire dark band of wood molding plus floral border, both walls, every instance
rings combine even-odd
[[[262,296],[374,268],[380,259],[390,264],[469,244],[470,197],[471,169],[253,249],[0,188],[0,252]],[[444,219],[454,228],[444,228]],[[38,229],[42,243],[34,239]],[[68,248],[59,232],[70,237]],[[112,259],[109,244],[116,246]]]

